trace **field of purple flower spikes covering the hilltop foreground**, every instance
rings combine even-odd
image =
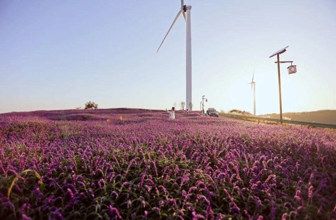
[[[0,114],[0,219],[335,219],[336,132],[97,109]]]

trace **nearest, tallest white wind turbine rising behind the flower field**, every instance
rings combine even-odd
[[[171,24],[165,38],[163,39],[161,45],[163,44],[164,40],[166,39],[167,35],[169,34],[170,30],[174,26],[175,22],[177,19],[180,17],[181,14],[183,14],[184,19],[187,23],[187,28],[186,28],[186,102],[185,105],[187,109],[191,110],[189,107],[189,103],[192,103],[191,99],[191,21],[190,21],[190,10],[191,10],[191,5],[184,5],[183,0],[181,0],[181,10],[177,13],[173,23]],[[159,47],[159,49],[160,49]],[[156,51],[158,52],[159,49]]]

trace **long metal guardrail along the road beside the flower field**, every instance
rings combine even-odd
[[[259,121],[276,121],[280,122],[280,119],[276,118],[264,118],[264,117],[255,117],[255,116],[247,116],[247,115],[234,115],[234,114],[226,114],[221,113],[221,115],[229,116],[229,117],[237,117],[237,118],[249,118],[249,119],[255,119]],[[301,124],[301,125],[308,125],[308,126],[314,126],[314,127],[327,127],[327,128],[336,128],[336,124],[327,124],[327,123],[318,123],[318,122],[307,122],[307,121],[293,121],[293,120],[285,120],[282,119],[283,123],[289,123],[289,124]]]

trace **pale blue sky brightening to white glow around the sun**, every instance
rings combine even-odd
[[[185,0],[191,9],[192,100],[200,109],[279,113],[336,109],[336,1]],[[181,16],[156,53],[179,0],[0,1],[0,113],[170,109],[185,102]]]

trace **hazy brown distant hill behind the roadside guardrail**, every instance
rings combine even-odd
[[[320,123],[336,124],[336,110],[320,110],[314,112],[286,112],[282,114],[284,117],[289,117],[294,121],[315,121]],[[271,118],[280,118],[280,114],[258,115],[270,116]]]

